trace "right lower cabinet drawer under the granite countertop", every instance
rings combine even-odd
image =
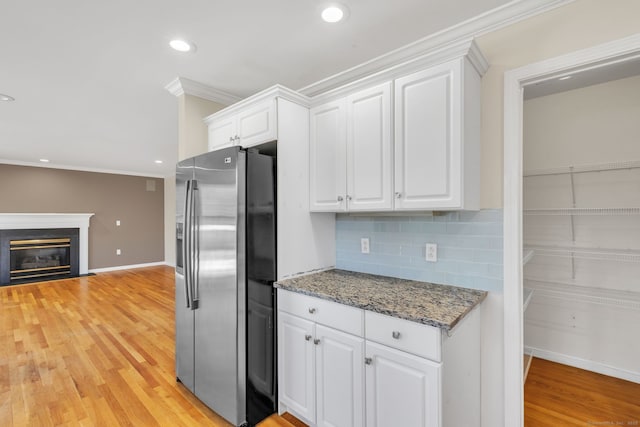
[[[442,360],[441,334],[440,329],[433,326],[365,311],[367,340],[426,357],[435,362]]]

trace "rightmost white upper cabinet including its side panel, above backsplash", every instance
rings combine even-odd
[[[478,209],[480,76],[459,58],[395,81],[395,208]]]

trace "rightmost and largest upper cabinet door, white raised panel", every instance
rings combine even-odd
[[[461,207],[461,66],[395,81],[396,209]]]

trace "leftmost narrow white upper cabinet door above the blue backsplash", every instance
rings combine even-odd
[[[347,207],[345,105],[341,99],[311,109],[312,212],[344,212]]]

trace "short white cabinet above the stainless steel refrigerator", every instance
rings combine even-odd
[[[277,107],[275,99],[267,99],[209,123],[209,151],[240,145],[252,147],[276,140]]]

